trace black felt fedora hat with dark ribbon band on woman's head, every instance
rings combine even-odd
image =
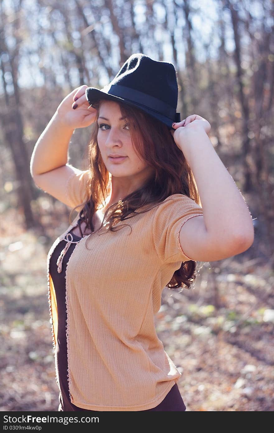
[[[150,114],[167,126],[180,122],[176,113],[178,85],[172,63],[152,60],[142,53],[132,54],[110,84],[97,89],[87,87],[90,107],[100,99],[123,101]]]

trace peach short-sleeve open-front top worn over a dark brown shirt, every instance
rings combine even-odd
[[[66,194],[71,207],[85,195],[88,171],[71,174]],[[68,385],[71,402],[101,411],[155,407],[181,377],[164,351],[154,315],[162,290],[188,258],[179,232],[202,208],[183,194],[133,218],[115,232],[84,236],[66,266]],[[78,216],[48,252],[64,239]],[[88,242],[87,242],[88,239]],[[87,242],[87,246],[86,246]],[[55,347],[58,313],[48,269],[48,300]]]

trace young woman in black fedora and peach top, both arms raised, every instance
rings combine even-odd
[[[162,290],[190,288],[196,261],[253,243],[209,122],[181,121],[177,95],[171,63],[134,54],[108,86],[68,94],[35,145],[35,184],[78,209],[47,260],[60,411],[184,411],[155,330]],[[81,171],[68,143],[91,124]]]

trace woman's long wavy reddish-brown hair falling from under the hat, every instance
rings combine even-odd
[[[93,215],[101,205],[106,205],[106,198],[110,192],[111,174],[101,157],[97,143],[98,123],[100,105],[103,100],[93,104],[97,109],[97,116],[93,123],[90,142],[88,147],[90,181],[87,185],[87,199],[75,206],[69,214],[69,222],[72,223],[71,213],[81,207],[77,226],[81,231],[81,222],[85,221],[86,229],[94,232]],[[129,123],[132,145],[135,152],[154,168],[153,175],[137,190],[128,194],[122,200],[112,204],[104,215],[102,224],[106,222],[107,229],[116,231],[122,229],[122,224],[114,227],[116,223],[135,216],[135,211],[140,207],[150,204],[159,204],[172,194],[184,194],[192,198],[201,206],[197,185],[190,166],[183,152],[177,147],[171,132],[164,123],[144,113],[129,104],[118,102],[122,116]],[[149,207],[143,212],[152,209]],[[143,212],[138,212],[143,213]],[[99,229],[99,230],[100,230]],[[99,231],[98,230],[98,231]],[[89,239],[88,236],[87,239]],[[196,262],[189,260],[182,262],[181,268],[174,272],[168,288],[190,288],[196,278]]]

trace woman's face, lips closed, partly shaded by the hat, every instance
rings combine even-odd
[[[115,101],[103,101],[98,115],[97,142],[106,165],[106,169],[115,177],[146,177],[151,167],[136,154],[130,136],[130,126],[126,119],[121,119],[119,104]],[[111,158],[121,155],[124,158]],[[143,175],[143,176],[142,176]]]

